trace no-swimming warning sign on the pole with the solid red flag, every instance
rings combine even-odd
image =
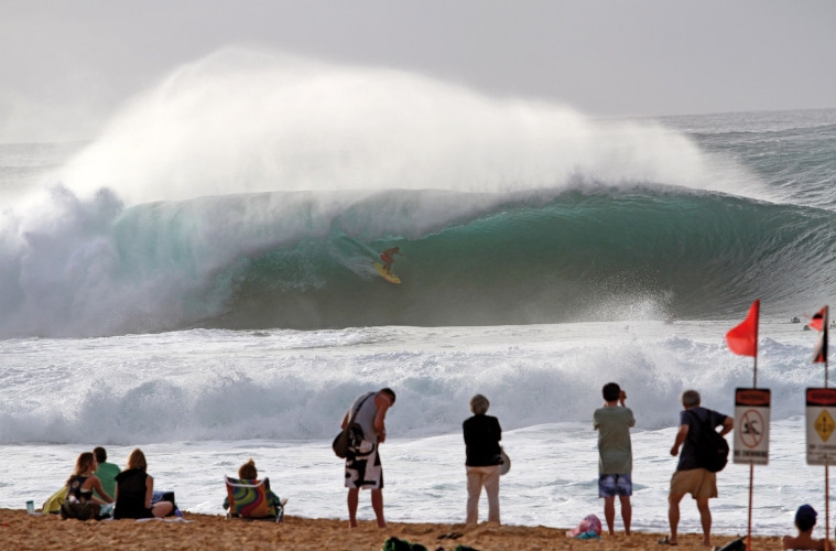
[[[768,389],[735,390],[735,463],[769,463],[769,407]]]

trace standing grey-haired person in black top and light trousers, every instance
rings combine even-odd
[[[481,395],[470,399],[474,417],[463,423],[467,460],[467,525],[479,520],[481,488],[488,494],[488,521],[499,523],[499,471],[502,429],[495,417],[486,415],[490,402]]]

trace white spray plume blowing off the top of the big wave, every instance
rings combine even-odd
[[[61,177],[128,204],[276,191],[665,183],[741,193],[691,140],[416,74],[225,50],[134,98]],[[754,193],[752,191],[752,193]]]

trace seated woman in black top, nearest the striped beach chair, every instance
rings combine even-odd
[[[151,506],[154,478],[145,473],[146,468],[145,454],[138,447],[128,456],[126,469],[116,476],[115,519],[165,517],[174,509],[171,501]]]

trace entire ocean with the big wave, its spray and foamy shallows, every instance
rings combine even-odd
[[[480,392],[513,461],[503,522],[571,527],[602,512],[591,412],[614,380],[633,526],[664,531],[678,395],[732,413],[752,360],[723,335],[761,299],[753,521],[788,532],[824,511],[804,464],[824,367],[790,321],[836,291],[834,151],[833,109],[599,119],[267,52],[180,67],[95,140],[0,144],[0,506],[141,446],[186,511],[222,514],[253,457],[289,514],[344,518],[330,440],[389,386],[389,520],[464,520]],[[401,285],[371,267],[391,246]],[[746,531],[748,484],[720,473],[716,532]]]

